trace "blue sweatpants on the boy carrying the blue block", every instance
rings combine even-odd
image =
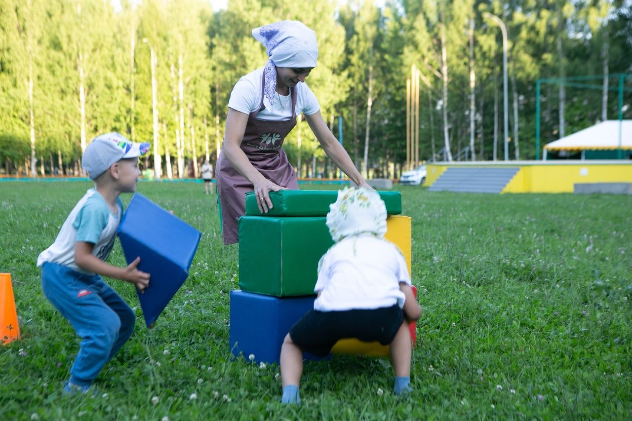
[[[70,381],[92,384],[134,331],[136,316],[123,298],[99,275],[86,275],[70,267],[42,265],[42,291],[83,340],[70,369]]]

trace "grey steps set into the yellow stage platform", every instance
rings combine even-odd
[[[501,193],[520,168],[448,168],[429,192]]]

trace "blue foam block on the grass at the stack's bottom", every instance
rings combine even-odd
[[[298,319],[312,310],[315,295],[279,298],[276,296],[231,291],[231,329],[229,352],[255,362],[279,363],[281,345]],[[322,360],[303,353],[308,360]]]

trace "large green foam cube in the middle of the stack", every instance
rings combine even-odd
[[[313,295],[320,257],[334,244],[325,217],[242,216],[241,290],[274,296]]]

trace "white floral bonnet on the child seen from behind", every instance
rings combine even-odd
[[[345,187],[336,202],[329,205],[327,227],[336,243],[350,235],[386,234],[386,205],[375,190]]]

